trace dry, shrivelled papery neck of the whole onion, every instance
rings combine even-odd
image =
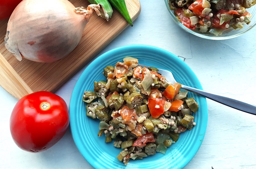
[[[89,21],[90,17],[96,13],[98,16],[103,17],[107,21],[109,20],[109,15],[105,12],[101,4],[90,4],[87,8],[83,6],[75,8],[76,13],[84,15],[86,21]]]

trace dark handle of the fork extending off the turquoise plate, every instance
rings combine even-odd
[[[234,109],[241,110],[241,111],[256,115],[256,106],[254,106],[254,105],[244,103],[244,102],[240,102],[238,100],[231,99],[231,98],[228,98],[228,97],[215,95],[215,94],[205,92],[205,91],[193,88],[193,87],[188,87],[188,86],[185,86],[185,85],[181,85],[181,88],[183,88],[183,89],[185,89],[189,92],[193,92],[193,93],[202,95],[202,96],[204,96],[208,99],[214,100],[218,103],[221,103],[223,105],[232,107]]]

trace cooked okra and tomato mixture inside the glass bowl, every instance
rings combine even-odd
[[[170,10],[187,28],[221,35],[226,29],[242,29],[252,15],[255,0],[168,0]]]

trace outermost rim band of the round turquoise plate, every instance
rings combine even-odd
[[[77,98],[77,93],[79,90],[78,90],[78,86],[80,86],[80,83],[82,81],[82,78],[84,75],[86,75],[86,73],[88,72],[88,70],[90,70],[91,68],[93,68],[93,63],[97,63],[98,61],[100,61],[102,58],[104,58],[105,55],[109,55],[110,53],[114,52],[114,51],[122,51],[123,49],[126,49],[126,48],[144,48],[144,49],[147,49],[147,48],[151,48],[152,50],[156,50],[157,52],[165,52],[166,54],[168,54],[168,56],[170,57],[173,57],[176,56],[174,55],[173,53],[167,51],[167,50],[164,50],[162,48],[158,48],[158,47],[155,47],[155,46],[150,46],[150,45],[144,45],[144,44],[133,44],[133,45],[126,45],[126,46],[121,46],[121,47],[118,47],[118,48],[114,48],[112,50],[109,50],[105,53],[103,53],[102,55],[100,55],[99,57],[95,58],[88,66],[87,68],[82,72],[82,74],[80,75],[80,77],[78,78],[77,82],[76,82],[76,85],[74,86],[73,88],[73,91],[72,91],[72,95],[71,95],[71,98],[70,98],[70,104],[69,104],[69,115],[70,115],[70,128],[71,128],[71,134],[72,134],[72,137],[73,137],[73,140],[74,140],[74,143],[76,144],[79,152],[82,154],[82,156],[84,157],[84,159],[90,164],[92,165],[94,168],[97,168],[98,166],[93,163],[91,160],[92,160],[92,157],[88,157],[86,156],[86,152],[84,152],[84,149],[81,149],[79,147],[81,147],[79,144],[80,144],[80,140],[77,140],[79,139],[78,137],[78,131],[77,129],[75,128],[76,126],[76,119],[73,117],[73,114],[76,110],[76,99]],[[199,81],[199,79],[197,78],[196,74],[191,70],[191,68],[185,63],[183,62],[180,58],[178,58],[177,56],[174,58],[174,60],[176,60],[177,62],[179,62],[180,64],[183,64],[186,66],[186,69],[188,69],[190,71],[190,73],[192,74],[192,76],[194,76],[196,78],[196,85],[198,86],[199,89],[202,89],[202,86],[201,86],[201,83]],[[193,157],[195,156],[195,154],[197,153],[197,151],[199,150],[201,144],[202,144],[202,141],[204,139],[204,136],[205,136],[205,133],[206,133],[206,129],[207,129],[207,122],[208,122],[208,107],[207,107],[207,101],[206,101],[206,98],[204,98],[204,114],[205,114],[205,119],[204,119],[204,130],[203,130],[203,133],[200,134],[201,136],[201,139],[200,139],[200,142],[197,143],[197,146],[198,148],[196,149],[196,151],[192,154],[190,154],[190,158],[188,161],[186,161],[186,163],[182,163],[180,166],[178,166],[178,168],[183,168],[185,167],[190,161],[191,159],[193,159]],[[73,106],[74,105],[74,106]],[[70,114],[71,112],[73,112],[73,114]],[[73,128],[74,127],[74,128]]]

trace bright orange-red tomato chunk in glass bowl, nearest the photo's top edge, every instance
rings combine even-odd
[[[205,8],[210,8],[210,3],[207,0],[197,0],[188,7],[188,9],[200,17],[206,17],[205,14],[202,14]]]

